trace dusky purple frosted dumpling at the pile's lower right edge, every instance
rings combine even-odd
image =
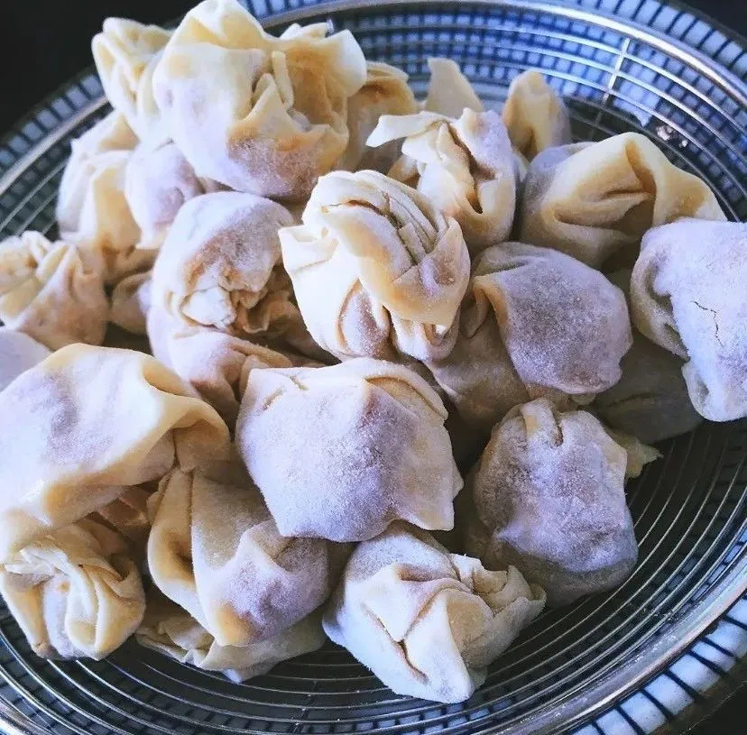
[[[622,583],[638,556],[625,504],[628,455],[586,411],[539,399],[493,429],[465,492],[466,551],[516,565],[565,605]]]

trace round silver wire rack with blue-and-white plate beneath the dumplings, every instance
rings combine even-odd
[[[658,0],[248,5],[276,32],[295,21],[349,28],[368,58],[408,71],[420,94],[429,56],[457,60],[488,106],[501,105],[521,70],[539,67],[566,97],[576,139],[644,133],[671,161],[705,179],[730,217],[747,219],[747,52],[741,41],[677,6]],[[106,113],[101,95],[96,76],[84,72],[0,143],[0,236],[27,228],[54,234],[69,142]],[[613,593],[544,613],[464,704],[392,694],[331,644],[243,685],[132,643],[98,663],[46,662],[32,655],[0,605],[0,730],[650,732],[675,721],[687,704],[705,707],[705,679],[735,684],[730,670],[747,649],[747,602],[737,603],[747,586],[747,421],[705,425],[660,449],[663,458],[629,491],[641,547],[631,578]],[[686,673],[683,662],[692,661],[700,669]],[[678,697],[657,684],[662,677]]]

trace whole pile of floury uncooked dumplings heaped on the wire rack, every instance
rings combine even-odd
[[[631,574],[648,445],[747,416],[747,225],[703,181],[571,142],[537,71],[499,114],[430,60],[419,104],[235,0],[93,51],[60,238],[0,244],[0,592],[40,656],[241,681],[327,636],[460,702]]]

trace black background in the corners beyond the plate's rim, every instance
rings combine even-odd
[[[198,0],[0,0],[0,135],[30,107],[92,63],[91,37],[109,15],[165,23]],[[682,5],[681,3],[679,5]],[[687,5],[747,36],[747,0]],[[693,735],[747,734],[744,687]]]

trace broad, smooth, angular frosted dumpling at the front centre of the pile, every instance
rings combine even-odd
[[[452,528],[462,479],[446,418],[402,365],[254,370],[236,446],[283,536],[362,541],[397,519]]]

